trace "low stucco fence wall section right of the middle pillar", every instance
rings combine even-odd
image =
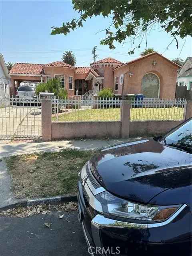
[[[182,122],[184,122],[184,120],[130,122],[130,137],[166,134],[169,130]]]

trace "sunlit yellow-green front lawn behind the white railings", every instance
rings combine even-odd
[[[182,120],[184,108],[132,108],[131,121],[145,120]],[[52,121],[120,121],[120,108],[73,110],[52,117]]]

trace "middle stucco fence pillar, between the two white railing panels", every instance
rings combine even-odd
[[[121,106],[121,137],[122,138],[129,138],[130,112],[131,112],[131,101],[122,100],[122,106]]]

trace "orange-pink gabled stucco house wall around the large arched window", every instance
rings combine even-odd
[[[155,66],[152,64],[153,60],[157,61]],[[125,75],[124,94],[140,94],[142,78],[145,74],[152,72],[160,79],[160,98],[174,98],[177,70],[178,68],[171,62],[158,54],[153,54],[114,70],[114,78],[122,73],[132,73],[131,77],[128,73]],[[120,86],[118,94],[121,94]]]

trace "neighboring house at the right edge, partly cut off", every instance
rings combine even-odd
[[[178,86],[186,86],[187,90],[192,90],[192,57],[187,57],[178,71],[177,82]]]

